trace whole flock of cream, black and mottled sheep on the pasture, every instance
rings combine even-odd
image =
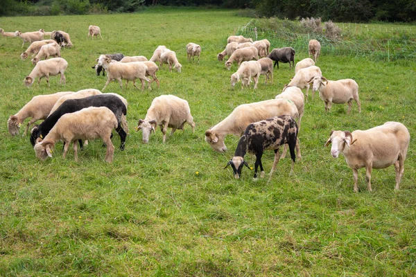
[[[58,74],[60,74],[60,82],[65,82],[64,71],[68,63],[60,57],[60,48],[72,46],[67,33],[61,30],[46,33],[43,29],[28,33],[19,31],[7,33],[1,28],[0,33],[5,37],[21,37],[22,47],[26,42],[31,43],[26,51],[21,53],[22,60],[31,55],[32,62],[35,64],[33,71],[24,80],[26,86],[31,86],[36,78],[39,78],[40,83],[44,77],[49,85],[49,76]],[[51,35],[51,39],[44,39],[44,35]],[[101,36],[100,28],[89,26],[88,36],[93,38],[98,35]],[[199,63],[201,47],[191,42],[187,44],[186,49],[188,61],[197,57]],[[297,138],[305,102],[301,89],[306,87],[307,98],[312,84],[313,94],[315,91],[319,92],[326,111],[331,109],[332,103],[347,103],[349,113],[352,100],[355,100],[358,111],[361,112],[358,84],[352,79],[327,80],[322,76],[320,68],[315,66],[320,55],[320,43],[315,39],[309,42],[309,55],[313,57],[313,60],[306,58],[297,62],[295,66],[293,48],[275,48],[270,51],[270,42],[267,39],[253,42],[252,39],[243,36],[229,37],[224,51],[218,53],[219,61],[228,56],[225,62],[228,70],[234,62],[238,64],[239,68],[231,75],[231,85],[234,87],[237,82],[241,81],[242,89],[250,87],[251,81],[254,82],[254,89],[256,89],[260,75],[266,75],[266,83],[269,79],[272,82],[273,67],[276,65],[279,67],[279,62],[288,62],[290,68],[292,66],[295,68],[295,75],[291,82],[284,86],[283,91],[275,99],[239,105],[224,120],[205,132],[205,141],[218,152],[227,150],[224,142],[225,136],[228,134],[241,136],[234,157],[227,163],[227,166],[232,167],[234,177],[240,177],[243,166],[250,168],[244,160],[246,153],[256,156],[254,178],[257,178],[259,167],[260,176],[263,177],[265,172],[261,157],[264,150],[268,149],[275,151],[271,175],[280,159],[281,145],[285,145],[281,158],[285,156],[287,147],[290,150],[291,171],[293,171],[296,155],[298,158],[301,157]],[[48,59],[51,56],[54,57]],[[150,60],[144,56],[125,57],[121,53],[100,55],[93,68],[97,75],[101,71],[103,75],[107,72],[107,82],[103,90],[112,80],[118,80],[121,88],[123,87],[122,80],[126,80],[126,87],[128,81],[131,80],[136,87],[137,79],[141,81],[141,90],[144,90],[145,82],[148,82],[148,89],[151,89],[150,84],[153,81],[159,87],[156,73],[162,69],[162,64],[168,64],[170,71],[175,69],[180,73],[182,70],[182,64],[177,60],[175,52],[166,46],[158,46]],[[40,95],[33,97],[17,114],[10,116],[8,130],[12,136],[15,136],[19,133],[21,123],[26,118],[31,118],[26,125],[24,132],[26,135],[33,123],[44,119],[40,125],[35,125],[31,129],[31,143],[37,158],[52,157],[55,143],[63,141],[63,157],[67,154],[69,145],[73,143],[74,157],[78,161],[78,143],[83,148],[83,145],[87,143],[83,140],[101,138],[107,146],[105,161],[111,163],[114,156],[114,145],[111,141],[113,129],[116,129],[120,136],[120,149],[123,150],[125,146],[125,138],[128,134],[128,125],[125,120],[127,109],[128,102],[125,98],[116,93],[102,93],[97,89]],[[146,117],[139,120],[137,130],[141,129],[143,141],[148,143],[150,134],[155,132],[155,127],[159,125],[163,133],[163,142],[165,142],[167,128],[171,127],[171,134],[173,134],[176,129],[183,129],[184,123],[191,125],[192,130],[195,129],[187,100],[177,96],[162,95],[153,100]],[[333,157],[338,157],[341,152],[344,154],[348,166],[354,173],[354,191],[358,191],[358,168],[366,168],[367,188],[372,190],[370,182],[372,168],[387,168],[391,165],[395,166],[395,189],[398,190],[404,174],[404,160],[409,141],[410,134],[403,124],[388,122],[365,131],[333,131],[325,145],[332,143]]]

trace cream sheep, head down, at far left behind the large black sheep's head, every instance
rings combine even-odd
[[[26,103],[17,114],[10,116],[7,120],[8,131],[12,136],[19,134],[19,129],[21,123],[26,120],[26,118],[31,118],[29,120],[23,136],[28,132],[29,127],[37,120],[45,119],[48,117],[49,112],[51,111],[55,102],[67,94],[71,94],[73,91],[62,91],[53,94],[45,94],[40,96],[33,96],[32,100]]]

